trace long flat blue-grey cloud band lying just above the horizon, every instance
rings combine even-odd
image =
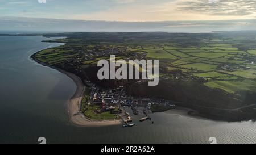
[[[2,31],[167,31],[211,32],[232,30],[256,30],[256,19],[214,21],[167,21],[167,22],[107,22],[96,20],[61,20],[20,17],[0,17]]]

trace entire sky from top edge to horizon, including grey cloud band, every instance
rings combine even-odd
[[[256,0],[0,0],[0,31],[256,30]]]

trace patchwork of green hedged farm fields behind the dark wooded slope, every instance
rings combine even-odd
[[[200,81],[203,86],[224,90],[227,93],[256,90],[254,43],[241,43],[241,38],[234,36],[225,39],[223,36],[213,34],[213,38],[201,39],[199,35],[192,39],[190,35],[185,37],[186,35],[177,34],[174,37],[142,39],[128,37],[122,41],[108,41],[109,37],[105,41],[97,41],[96,38],[91,42],[86,40],[85,45],[81,45],[84,42],[79,43],[82,38],[61,39],[61,43],[69,45],[45,49],[37,53],[36,58],[58,66],[77,60],[81,68],[84,68],[84,65],[97,65],[97,61],[102,59],[110,61],[110,55],[116,55],[116,60],[158,59],[160,75],[167,79]]]

